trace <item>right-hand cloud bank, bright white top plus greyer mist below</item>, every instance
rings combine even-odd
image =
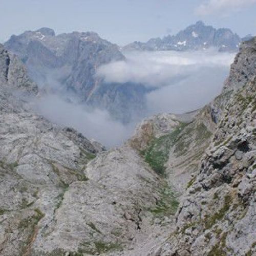
[[[228,75],[234,53],[215,49],[194,52],[133,52],[127,60],[101,66],[106,82],[139,82],[151,88],[146,95],[148,115],[183,113],[202,107],[217,96]]]

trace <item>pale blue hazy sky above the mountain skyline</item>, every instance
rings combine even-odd
[[[116,44],[175,34],[203,20],[256,34],[256,0],[0,0],[0,42],[25,30],[94,31]]]

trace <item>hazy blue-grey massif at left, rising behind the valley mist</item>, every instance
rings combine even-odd
[[[129,95],[122,84],[105,84],[95,76],[99,66],[125,57],[117,45],[94,32],[55,35],[52,29],[41,28],[12,35],[5,48],[22,59],[30,77],[41,87],[69,92],[123,122],[144,109],[143,86],[130,84]]]

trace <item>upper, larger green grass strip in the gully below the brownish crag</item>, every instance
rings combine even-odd
[[[157,174],[165,176],[164,163],[168,160],[170,147],[179,140],[179,134],[186,125],[187,123],[180,123],[172,133],[153,139],[147,149],[141,152]]]

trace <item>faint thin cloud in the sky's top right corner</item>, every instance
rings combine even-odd
[[[198,15],[229,14],[256,3],[256,0],[207,0],[196,8]]]

